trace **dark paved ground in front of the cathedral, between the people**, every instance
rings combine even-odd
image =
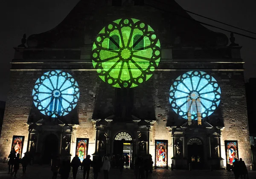
[[[90,179],[93,179],[93,170],[90,172]],[[134,170],[124,169],[122,175],[119,174],[119,170],[111,169],[109,179],[134,179]],[[103,179],[103,173],[101,172],[98,179]],[[77,179],[82,179],[82,171],[79,170]],[[11,174],[8,174],[8,165],[0,163],[0,179],[12,179]],[[51,179],[52,172],[49,166],[46,165],[33,165],[27,167],[26,174],[22,174],[22,168],[17,173],[17,179]],[[233,172],[226,170],[153,170],[153,174],[149,176],[149,179],[234,179]],[[60,176],[58,175],[58,179]],[[72,171],[70,171],[69,179],[73,179]],[[256,171],[249,171],[249,179],[256,179]]]

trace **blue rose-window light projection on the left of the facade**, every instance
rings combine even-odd
[[[61,70],[44,73],[35,82],[33,101],[38,110],[56,118],[70,113],[79,99],[79,87],[72,75]]]

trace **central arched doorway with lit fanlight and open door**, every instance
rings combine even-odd
[[[113,155],[115,155],[117,167],[119,158],[123,155],[126,157],[126,161],[129,162],[126,167],[130,167],[130,159],[132,159],[132,138],[130,134],[126,132],[116,134],[113,141]]]

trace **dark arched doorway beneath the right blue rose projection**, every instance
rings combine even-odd
[[[204,162],[204,145],[203,142],[193,137],[188,141],[188,162],[191,163],[192,168],[202,169]]]

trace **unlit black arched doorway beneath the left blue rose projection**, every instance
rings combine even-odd
[[[44,140],[43,164],[49,164],[52,157],[58,155],[58,138],[55,134],[49,134]]]

